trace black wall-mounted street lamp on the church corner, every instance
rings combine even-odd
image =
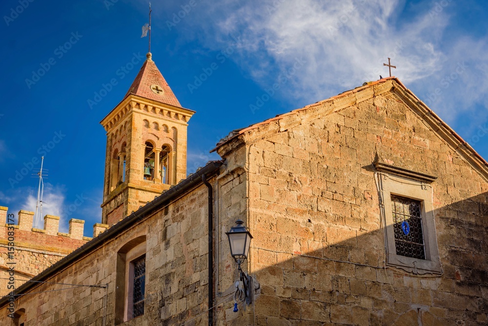
[[[252,235],[244,226],[244,222],[242,220],[237,220],[236,225],[230,228],[229,232],[225,232],[227,237],[229,238],[229,245],[230,245],[230,254],[234,258],[237,264],[237,272],[239,273],[239,280],[243,283],[243,289],[240,289],[238,286],[239,281],[236,281],[236,295],[234,295],[234,311],[237,312],[237,300],[240,297],[239,293],[244,294],[244,299],[246,304],[251,304],[251,284],[252,284],[252,277],[244,273],[241,268],[241,264],[247,258],[247,254],[249,253],[249,245],[251,244]],[[244,301],[244,299],[242,301]]]

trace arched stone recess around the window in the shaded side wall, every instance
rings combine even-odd
[[[133,319],[132,300],[134,286],[134,262],[142,259],[143,257],[147,258],[146,250],[146,236],[139,235],[122,245],[117,252],[115,280],[115,325],[120,325]],[[145,283],[147,284],[147,259],[145,265]],[[143,315],[144,313],[138,317]]]

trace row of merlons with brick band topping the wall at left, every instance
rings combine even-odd
[[[78,219],[69,220],[69,232],[61,233],[59,232],[60,217],[54,215],[44,216],[44,228],[37,229],[32,227],[34,222],[34,212],[21,209],[18,213],[18,224],[8,224],[7,220],[8,207],[0,206],[0,221],[5,221],[5,227],[14,227],[23,231],[30,231],[36,233],[43,233],[48,236],[53,237],[64,237],[71,238],[73,240],[89,241],[92,238],[83,236],[83,226],[85,221]],[[11,221],[10,221],[11,222]],[[0,222],[1,223],[1,222]],[[104,232],[108,228],[108,225],[96,223],[93,225],[93,236],[96,237],[100,233]]]

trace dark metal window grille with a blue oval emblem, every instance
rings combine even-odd
[[[396,254],[426,259],[421,202],[391,196]]]

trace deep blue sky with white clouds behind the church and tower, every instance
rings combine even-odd
[[[187,173],[217,159],[209,150],[232,129],[387,77],[387,57],[488,158],[486,1],[153,0],[152,8],[153,60],[183,107],[197,111]],[[70,218],[85,220],[91,236],[101,220],[99,122],[145,59],[148,2],[5,0],[0,14],[0,205],[35,209],[31,174],[44,155],[44,213],[61,215],[61,231]]]

